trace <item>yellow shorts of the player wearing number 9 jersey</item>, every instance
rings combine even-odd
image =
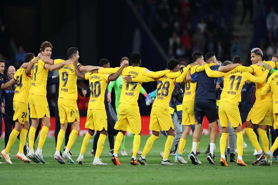
[[[78,122],[80,121],[76,100],[58,98],[58,110],[60,123],[73,123],[75,120]]]

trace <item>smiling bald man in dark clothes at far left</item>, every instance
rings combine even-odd
[[[10,66],[7,70],[7,79],[4,80],[4,83],[10,81],[15,74],[15,67]],[[5,114],[5,148],[7,146],[12,126],[15,128],[15,121],[13,121],[13,116],[15,113],[14,106],[13,106],[13,98],[15,94],[15,87],[16,85],[13,84],[9,90],[2,90],[3,91],[3,102],[4,102],[4,109],[2,109],[3,113]],[[17,137],[19,139],[19,135]]]

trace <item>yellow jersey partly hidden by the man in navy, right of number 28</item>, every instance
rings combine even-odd
[[[198,66],[192,66],[190,68],[190,74],[193,74],[196,72],[196,68]],[[183,102],[188,102],[188,101],[195,101],[195,91],[196,91],[196,86],[197,82],[189,82],[189,81],[184,81],[185,82],[185,89],[184,89],[184,95],[183,95]]]

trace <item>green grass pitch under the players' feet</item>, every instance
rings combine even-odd
[[[141,137],[140,150],[143,150],[148,136]],[[72,147],[72,158],[77,159],[83,137],[78,137]],[[192,136],[189,136],[185,146],[184,159],[188,161],[187,165],[177,164],[175,166],[162,166],[159,153],[164,150],[166,138],[160,136],[154,143],[152,150],[147,155],[148,166],[132,166],[129,164],[131,158],[131,140],[126,138],[126,149],[128,156],[120,156],[121,166],[114,166],[111,162],[111,156],[108,154],[108,138],[105,141],[104,149],[101,155],[102,161],[107,166],[93,166],[93,157],[90,155],[92,143],[89,143],[84,155],[84,165],[77,163],[65,165],[58,164],[54,160],[55,142],[54,138],[47,138],[43,154],[46,164],[25,164],[15,157],[19,141],[11,149],[12,165],[5,163],[2,158],[0,161],[0,184],[277,184],[278,183],[278,162],[273,160],[273,166],[252,166],[255,159],[253,156],[254,148],[248,138],[244,136],[247,148],[244,149],[243,160],[247,167],[237,166],[235,163],[228,162],[228,167],[222,167],[219,164],[220,150],[219,138],[216,141],[215,162],[216,165],[210,165],[206,160],[205,150],[207,149],[208,136],[202,136],[200,143],[201,155],[198,155],[202,165],[192,165],[187,159],[188,151],[192,146]],[[37,142],[35,146],[37,146]],[[0,139],[1,146],[4,146],[4,140]],[[63,146],[63,145],[62,145]],[[2,149],[1,149],[2,150]],[[137,155],[137,157],[139,157]],[[228,157],[229,159],[230,157]],[[169,160],[174,162],[174,156],[169,156]]]

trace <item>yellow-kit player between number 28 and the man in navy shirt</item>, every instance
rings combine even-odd
[[[190,75],[196,72],[197,65],[200,65],[204,62],[203,53],[194,52],[192,54],[193,63],[188,65],[187,67],[191,67],[187,73]],[[187,136],[190,132],[191,125],[195,125],[195,115],[194,115],[194,101],[195,101],[195,90],[196,90],[196,82],[187,81],[186,80],[187,74],[183,74],[176,78],[177,83],[185,82],[185,90],[183,95],[183,116],[182,116],[182,125],[185,125],[183,134],[179,140],[179,149],[175,156],[175,159],[178,160],[181,164],[186,164],[186,161],[182,157],[183,149],[185,147]],[[200,131],[200,135],[202,134],[202,129]],[[198,140],[198,146],[200,144],[200,137]]]

